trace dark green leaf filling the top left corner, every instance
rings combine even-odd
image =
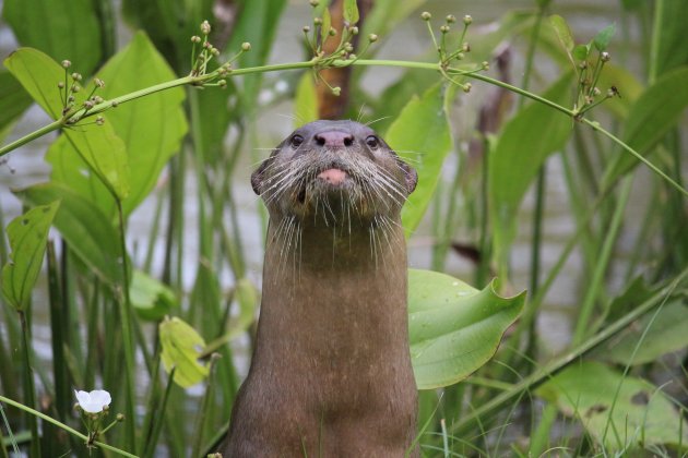
[[[3,15],[22,46],[40,49],[58,62],[71,60],[70,70],[88,75],[102,56],[95,4],[91,0],[4,0]]]

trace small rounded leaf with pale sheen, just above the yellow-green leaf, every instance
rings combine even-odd
[[[179,305],[171,289],[141,270],[134,270],[131,276],[129,297],[143,320],[162,320]]]

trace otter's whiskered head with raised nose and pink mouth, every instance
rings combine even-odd
[[[367,125],[315,121],[277,145],[251,184],[272,216],[351,222],[396,217],[417,178]]]

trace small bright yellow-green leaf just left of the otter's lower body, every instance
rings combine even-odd
[[[165,318],[158,329],[163,365],[168,373],[175,369],[175,383],[188,388],[202,382],[207,376],[209,369],[198,360],[205,347],[199,333],[177,317]]]

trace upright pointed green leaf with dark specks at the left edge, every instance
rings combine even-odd
[[[10,262],[2,267],[2,296],[16,310],[25,310],[31,301],[43,255],[46,252],[48,230],[59,201],[29,209],[9,224]]]

